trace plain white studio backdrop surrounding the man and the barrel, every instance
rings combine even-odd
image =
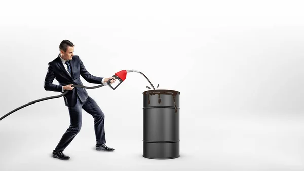
[[[139,70],[180,94],[180,157],[142,157],[148,81],[129,73],[116,89],[87,90],[105,113],[95,151],[93,118],[61,161],[69,125],[63,98],[0,121],[0,170],[303,170],[304,12],[301,1],[10,1],[0,3],[1,116],[44,90],[48,62],[68,39],[87,70]],[[82,79],[84,85],[94,86]],[[58,84],[54,81],[54,84]]]

